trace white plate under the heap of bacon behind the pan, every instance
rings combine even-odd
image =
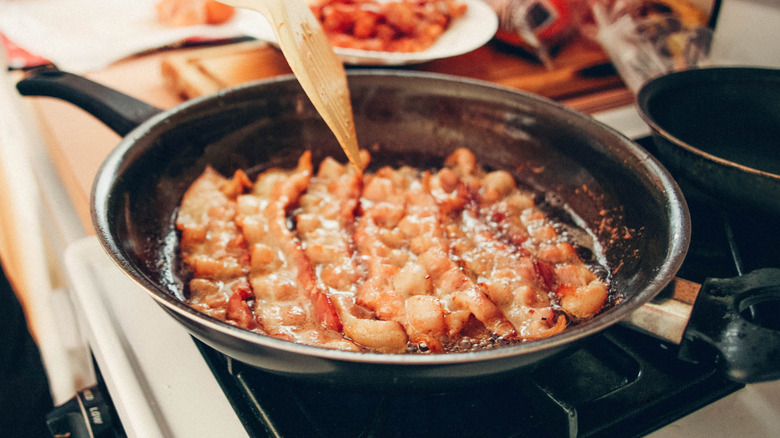
[[[404,65],[419,64],[434,59],[462,55],[482,47],[498,30],[498,17],[482,0],[461,0],[468,8],[466,14],[455,20],[439,39],[421,52],[376,52],[370,50],[335,47],[342,62],[351,65]],[[259,15],[253,19],[243,17],[243,31],[259,40],[275,43],[276,37],[268,22]]]

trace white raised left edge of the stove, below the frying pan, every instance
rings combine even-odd
[[[96,238],[71,244],[65,267],[78,317],[129,437],[247,436],[189,333]]]

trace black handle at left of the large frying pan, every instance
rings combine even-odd
[[[120,136],[162,112],[134,97],[82,76],[59,70],[33,70],[16,84],[23,96],[47,96],[70,102],[97,117]]]

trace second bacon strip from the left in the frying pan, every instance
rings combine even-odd
[[[287,226],[287,212],[308,186],[311,173],[311,154],[305,153],[296,169],[268,170],[258,177],[252,193],[238,197],[236,221],[250,247],[254,311],[273,336],[354,349],[342,339],[333,304],[317,286],[311,263]]]

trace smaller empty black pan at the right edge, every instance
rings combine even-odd
[[[780,216],[780,70],[670,73],[645,84],[637,105],[661,161],[680,183],[730,210]]]

